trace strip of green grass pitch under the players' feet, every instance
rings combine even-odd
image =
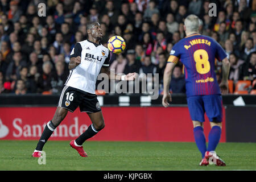
[[[32,158],[37,141],[0,140],[0,170],[256,170],[256,143],[220,143],[217,154],[226,167],[198,166],[195,143],[93,142],[84,143],[88,158],[79,156],[69,141],[49,140],[46,164]]]

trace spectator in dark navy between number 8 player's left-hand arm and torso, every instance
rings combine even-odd
[[[172,72],[170,89],[172,93],[185,93],[185,78],[179,66],[176,66]]]

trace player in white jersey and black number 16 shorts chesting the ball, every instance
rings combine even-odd
[[[79,152],[80,156],[87,154],[82,147],[85,140],[93,137],[105,126],[100,104],[95,94],[98,74],[106,73],[110,76],[109,49],[102,46],[102,30],[100,23],[90,22],[86,25],[88,39],[76,43],[70,55],[68,68],[69,76],[61,92],[59,105],[44,128],[43,134],[33,152],[32,156],[39,158],[42,154],[43,146],[51,137],[53,131],[60,125],[68,111],[75,111],[79,106],[81,112],[86,112],[92,125],[78,138],[69,144]],[[115,75],[115,80],[134,80],[136,73],[129,73],[125,76]]]

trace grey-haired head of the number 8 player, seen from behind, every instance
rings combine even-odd
[[[199,32],[200,20],[196,15],[188,15],[184,21],[184,30],[186,34],[190,34],[192,32]]]

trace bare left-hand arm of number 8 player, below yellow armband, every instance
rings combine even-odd
[[[166,69],[164,69],[164,76],[163,76],[163,84],[164,84],[164,90],[163,90],[163,99],[162,104],[164,107],[167,107],[169,105],[168,101],[172,101],[171,94],[169,92],[170,82],[171,82],[171,75],[172,70],[175,67],[175,63],[168,63],[166,65]]]

